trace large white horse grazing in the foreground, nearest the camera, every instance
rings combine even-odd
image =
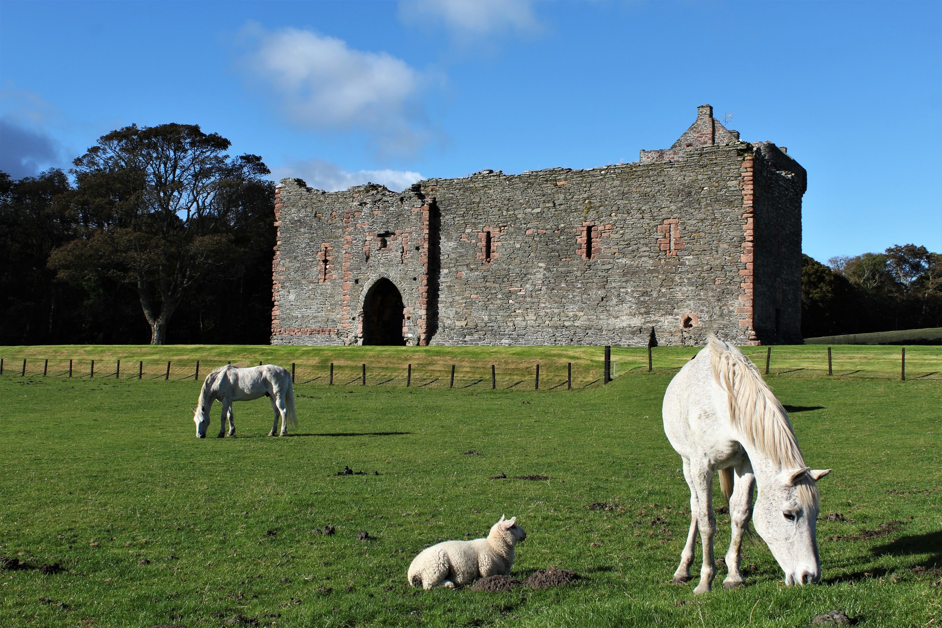
[[[787,585],[820,579],[816,481],[831,470],[805,466],[788,413],[738,348],[711,335],[707,346],[680,369],[664,395],[664,432],[684,460],[690,485],[690,533],[675,583],[690,580],[698,528],[704,556],[693,592],[708,591],[716,575],[711,500],[717,471],[733,528],[723,586],[743,584],[739,548],[750,517],[785,572]]]

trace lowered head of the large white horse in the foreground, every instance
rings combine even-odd
[[[816,538],[819,496],[815,482],[830,471],[808,467],[782,471],[755,500],[755,531],[785,572],[787,585],[820,579]]]

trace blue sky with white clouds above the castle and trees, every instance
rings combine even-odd
[[[942,2],[0,0],[0,169],[196,123],[276,177],[592,168],[696,115],[808,170],[804,251],[942,252]]]

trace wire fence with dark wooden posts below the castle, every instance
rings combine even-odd
[[[580,347],[572,362],[559,355],[541,360],[460,360],[461,350],[435,361],[402,363],[389,355],[357,360],[281,362],[298,385],[390,386],[494,390],[572,390],[643,373],[672,373],[701,347]],[[538,352],[538,349],[535,349]],[[746,346],[743,352],[766,377],[896,378],[942,380],[942,347],[937,346]],[[201,382],[229,363],[258,361],[200,359],[128,360],[0,357],[2,377],[192,380]]]

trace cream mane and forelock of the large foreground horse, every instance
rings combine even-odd
[[[801,469],[804,464],[798,439],[788,421],[788,412],[771,392],[755,364],[735,346],[715,335],[707,340],[713,378],[726,392],[729,419],[742,443],[752,446],[782,469]],[[796,497],[803,507],[817,506],[818,487],[808,475],[795,482]]]

